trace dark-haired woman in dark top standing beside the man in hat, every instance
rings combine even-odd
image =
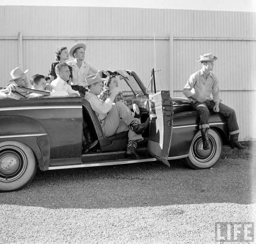
[[[51,78],[51,81],[55,80],[57,78],[57,75],[55,73],[55,67],[57,64],[59,63],[66,63],[66,60],[69,59],[69,51],[68,48],[66,46],[61,46],[60,48],[57,49],[57,51],[55,52],[56,54],[56,61],[51,64],[51,68],[50,68],[50,72],[49,72],[49,76]],[[73,77],[72,76],[72,67],[70,65],[69,66],[69,70],[70,70],[70,79]],[[70,80],[69,79],[69,80]],[[69,80],[67,81],[67,83],[69,83]]]

